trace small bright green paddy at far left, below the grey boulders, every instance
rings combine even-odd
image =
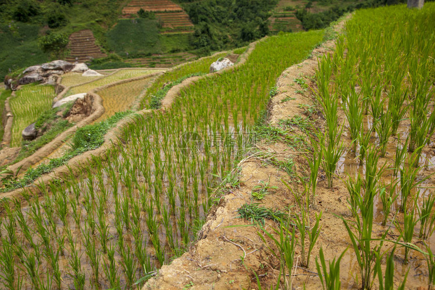
[[[42,112],[51,108],[55,97],[52,86],[25,85],[10,98],[14,123],[12,127],[11,147],[21,145],[21,132],[34,122]]]

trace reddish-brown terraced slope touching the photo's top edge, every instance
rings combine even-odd
[[[123,18],[130,18],[140,9],[154,12],[162,23],[162,32],[193,32],[193,23],[179,5],[169,0],[133,0],[122,10]]]

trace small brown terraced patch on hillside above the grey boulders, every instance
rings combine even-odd
[[[70,55],[66,58],[69,62],[89,62],[93,58],[106,57],[95,44],[94,33],[85,29],[74,32],[69,36],[68,49]]]

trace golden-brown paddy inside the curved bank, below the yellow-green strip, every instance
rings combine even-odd
[[[110,87],[98,92],[103,99],[104,114],[101,115],[94,123],[98,123],[113,116],[116,112],[122,112],[130,109],[141,92],[147,88],[152,78],[126,82],[118,86]]]

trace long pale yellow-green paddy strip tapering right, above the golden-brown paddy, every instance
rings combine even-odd
[[[112,82],[116,82],[123,79],[128,79],[132,77],[137,77],[141,75],[151,74],[154,72],[158,72],[158,70],[149,70],[149,69],[125,69],[125,70],[119,70],[115,72],[114,74],[108,75],[103,78],[99,78],[93,82],[90,82],[89,84],[84,84],[78,87],[71,88],[71,90],[68,91],[67,96],[79,94],[79,93],[86,93],[89,92],[95,88],[112,84]]]

